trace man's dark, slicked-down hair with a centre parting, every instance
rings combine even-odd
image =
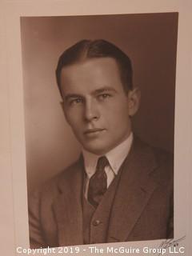
[[[65,50],[58,58],[56,78],[62,95],[61,72],[65,66],[82,62],[90,58],[114,58],[118,64],[122,86],[125,92],[133,89],[133,70],[130,58],[117,46],[103,39],[82,40]]]

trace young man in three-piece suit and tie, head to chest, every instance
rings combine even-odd
[[[140,94],[130,58],[83,40],[61,55],[56,76],[82,154],[30,198],[30,246],[173,238],[173,161],[133,134]]]

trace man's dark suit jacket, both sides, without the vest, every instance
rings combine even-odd
[[[29,198],[30,246],[83,244],[80,158]],[[106,242],[174,237],[173,158],[134,138],[114,197]]]

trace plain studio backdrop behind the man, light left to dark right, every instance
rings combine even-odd
[[[142,91],[134,131],[174,152],[178,14],[22,17],[22,66],[28,191],[69,166],[81,150],[62,112],[55,69],[79,40],[103,38],[128,54]]]

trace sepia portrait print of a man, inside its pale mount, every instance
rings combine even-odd
[[[20,22],[30,248],[174,238],[178,13]]]

